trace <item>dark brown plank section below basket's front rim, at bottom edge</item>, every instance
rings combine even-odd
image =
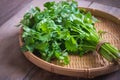
[[[38,67],[34,68],[34,70],[28,75],[28,77],[24,80],[79,80],[77,77],[63,76],[55,73],[51,73],[40,69]]]

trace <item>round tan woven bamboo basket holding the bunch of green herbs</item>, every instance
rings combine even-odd
[[[103,30],[111,33],[105,34],[103,36],[104,40],[109,41],[111,44],[120,49],[120,20],[108,13],[99,10],[89,8],[85,9],[90,11],[100,20],[100,22],[95,24],[97,30]],[[20,46],[23,45],[21,34],[22,30],[20,31],[19,35]],[[69,55],[70,64],[65,66],[57,65],[55,61],[51,63],[46,62],[31,52],[24,52],[24,55],[29,61],[40,68],[67,76],[93,78],[114,72],[120,68],[119,64],[108,62],[96,52],[85,54],[83,57]]]

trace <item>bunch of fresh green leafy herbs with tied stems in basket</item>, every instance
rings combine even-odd
[[[31,51],[50,62],[55,59],[69,63],[68,54],[82,56],[95,51],[100,37],[94,27],[97,19],[78,9],[77,2],[47,2],[44,10],[32,8],[20,24],[23,28],[23,51]],[[119,50],[104,43],[99,53],[109,61],[120,58]]]

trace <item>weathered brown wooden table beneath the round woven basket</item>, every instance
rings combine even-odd
[[[54,74],[29,62],[20,51],[19,28],[15,27],[30,6],[40,6],[48,0],[0,1],[0,80],[89,80]],[[103,1],[103,0],[102,0]],[[115,2],[116,1],[116,2]],[[96,8],[120,18],[120,2],[99,4],[97,0],[79,0],[79,6]],[[111,4],[112,3],[112,4]],[[116,4],[116,5],[115,5]],[[90,80],[119,80],[120,70]]]

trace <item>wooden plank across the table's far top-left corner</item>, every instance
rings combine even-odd
[[[0,0],[0,25],[32,0]]]

